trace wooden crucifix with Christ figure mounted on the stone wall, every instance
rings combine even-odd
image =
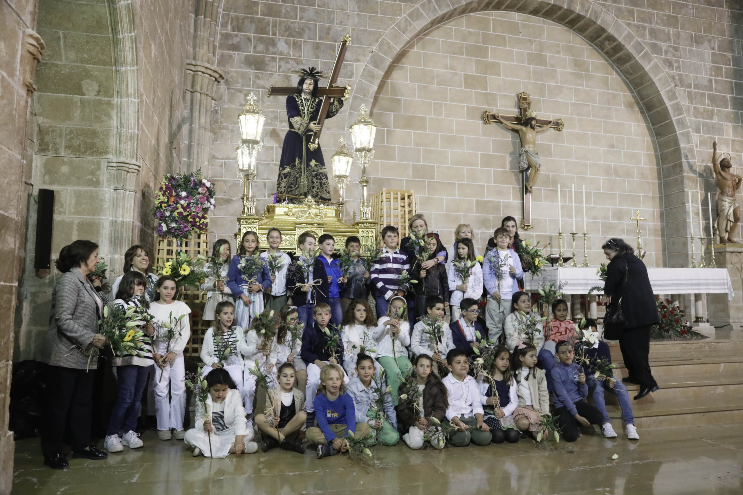
[[[536,151],[536,134],[555,129],[562,131],[565,125],[562,119],[537,119],[536,112],[531,110],[531,98],[525,92],[516,95],[519,102],[519,115],[501,115],[484,111],[482,119],[486,124],[500,122],[509,131],[519,133],[521,151],[519,151],[519,170],[522,177],[522,221],[524,230],[531,229],[531,192],[539,178],[542,166],[539,153]]]

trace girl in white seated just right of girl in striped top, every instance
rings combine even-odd
[[[238,352],[244,356],[247,365],[255,365],[268,376],[273,377],[276,364],[270,362],[268,355],[276,338],[276,330],[281,324],[279,312],[265,309],[260,315],[253,318],[250,330],[238,342]],[[245,413],[253,414],[253,399],[256,397],[256,376],[253,373],[243,373],[243,395],[245,398]]]

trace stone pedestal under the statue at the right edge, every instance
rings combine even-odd
[[[733,282],[735,296],[728,301],[727,294],[710,294],[707,300],[710,324],[724,330],[740,330],[743,324],[743,245],[715,246],[718,268],[727,268]]]

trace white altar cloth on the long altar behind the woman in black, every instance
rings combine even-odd
[[[539,284],[546,282],[565,282],[562,292],[565,294],[588,294],[594,286],[603,286],[603,281],[596,273],[596,266],[549,266],[542,270],[539,277],[524,274],[524,286],[527,291],[536,292]],[[654,294],[724,294],[733,299],[733,283],[730,274],[724,268],[654,268],[648,267],[648,278]],[[594,291],[594,294],[603,292]]]

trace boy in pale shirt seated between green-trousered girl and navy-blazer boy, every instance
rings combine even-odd
[[[446,366],[447,353],[454,349],[452,341],[452,329],[444,322],[444,299],[438,295],[432,295],[426,298],[426,318],[415,324],[412,336],[410,337],[410,350],[414,355],[425,354],[433,359],[433,373],[436,376],[444,376],[444,366]],[[440,339],[433,338],[426,333],[430,332],[432,325],[438,322],[441,324]],[[439,369],[441,367],[441,369]]]

